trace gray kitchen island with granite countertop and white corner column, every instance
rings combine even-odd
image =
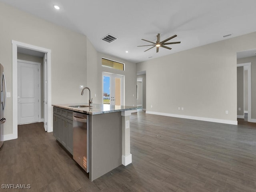
[[[54,136],[71,154],[73,154],[71,115],[73,112],[88,115],[87,164],[91,181],[122,164],[126,166],[132,163],[132,154],[130,154],[130,115],[141,107],[106,104],[92,104],[92,106],[89,106],[89,104],[56,104],[52,106],[54,106],[53,115],[55,116],[53,118]],[[60,116],[61,114],[64,114],[64,116]],[[60,121],[65,121],[65,127],[68,129],[63,128],[62,130],[62,128],[58,128],[55,123],[58,118],[63,119]],[[56,134],[56,129],[60,134]],[[66,134],[69,134],[69,136],[66,136]]]

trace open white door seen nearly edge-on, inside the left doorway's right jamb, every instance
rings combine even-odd
[[[47,60],[44,54],[44,130],[47,131]]]

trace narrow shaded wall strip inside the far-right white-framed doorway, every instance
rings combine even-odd
[[[244,115],[244,67],[237,68],[237,115]]]

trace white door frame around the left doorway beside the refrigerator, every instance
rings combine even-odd
[[[27,49],[31,49],[31,50],[36,50],[39,52],[43,52],[47,54],[47,116],[44,117],[44,120],[46,120],[46,122],[48,122],[47,125],[47,132],[52,132],[52,92],[51,92],[51,50],[50,49],[46,49],[46,48],[42,48],[42,47],[38,47],[38,46],[34,46],[34,45],[30,45],[30,44],[26,44],[26,43],[22,43],[22,42],[18,42],[15,40],[12,40],[12,136],[10,136],[10,138],[5,138],[5,140],[10,140],[10,139],[15,139],[18,138],[18,104],[17,104],[17,96],[18,96],[18,92],[17,92],[17,86],[18,86],[18,82],[17,82],[17,47],[22,47],[22,48],[27,48]]]

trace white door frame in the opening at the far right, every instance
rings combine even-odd
[[[248,70],[248,122],[256,123],[256,119],[252,119],[252,81],[251,81],[251,62],[237,64],[237,67],[243,67],[244,70]]]

